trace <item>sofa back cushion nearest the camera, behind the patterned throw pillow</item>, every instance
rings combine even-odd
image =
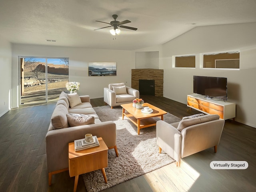
[[[54,129],[67,128],[69,126],[66,114],[68,114],[68,109],[63,104],[58,104],[55,107],[51,118]]]

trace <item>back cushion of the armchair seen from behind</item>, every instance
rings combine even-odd
[[[204,122],[213,121],[213,120],[218,120],[219,118],[220,118],[219,115],[214,114],[214,115],[204,115],[204,116],[184,119],[180,121],[177,130],[181,132],[186,127],[204,123]]]

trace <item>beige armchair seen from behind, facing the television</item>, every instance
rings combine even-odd
[[[181,158],[210,147],[217,152],[225,121],[216,114],[200,115],[186,117],[172,124],[162,120],[156,122],[159,153],[164,150],[176,160],[176,166],[180,166]]]

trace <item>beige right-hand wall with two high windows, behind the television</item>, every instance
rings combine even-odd
[[[193,75],[228,78],[228,101],[236,121],[256,127],[256,23],[197,27],[163,44],[164,97],[186,104]],[[202,69],[200,53],[240,50],[240,70]],[[196,68],[172,68],[172,56],[196,54]]]

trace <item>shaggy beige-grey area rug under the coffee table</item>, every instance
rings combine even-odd
[[[105,168],[107,184],[104,182],[101,170],[83,174],[88,192],[110,188],[174,162],[164,151],[159,154],[156,126],[143,128],[138,135],[137,127],[128,118],[124,117],[122,120],[120,106],[113,109],[110,106],[94,107],[94,110],[102,122],[116,123],[119,157],[116,157],[114,149],[108,150],[108,167]],[[168,113],[164,115],[164,121],[173,123],[180,121],[180,118]]]

